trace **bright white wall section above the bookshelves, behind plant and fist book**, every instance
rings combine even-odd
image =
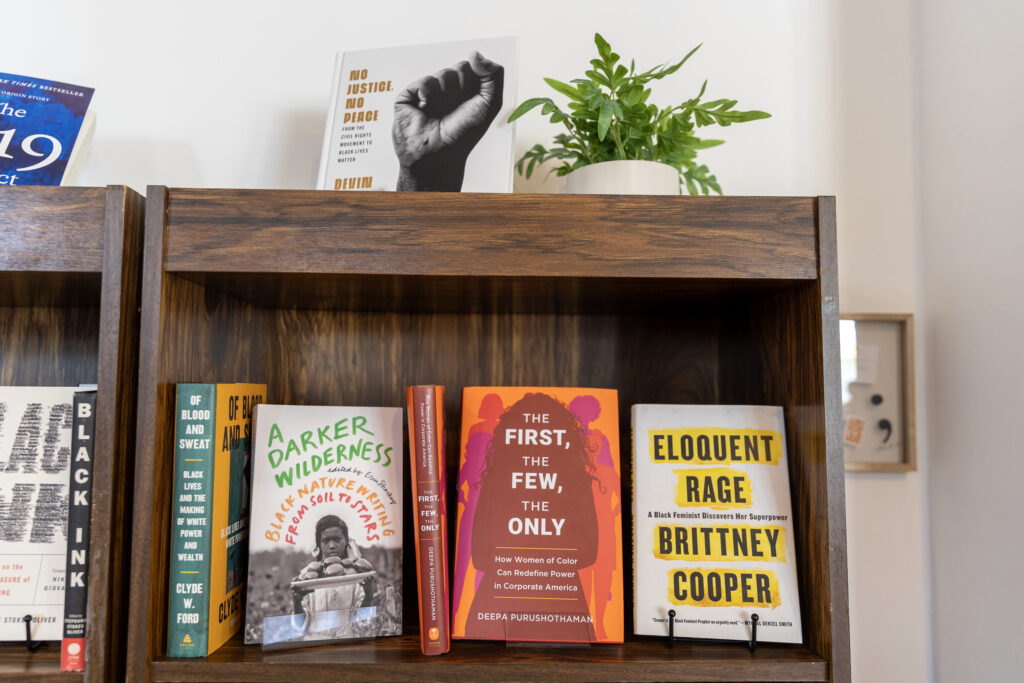
[[[822,154],[834,136],[821,106],[830,86],[815,3],[703,4],[720,3],[644,2],[643,11],[609,0],[526,0],[501,10],[451,0],[8,3],[4,26],[34,30],[3,32],[2,68],[96,88],[82,184],[311,188],[337,50],[519,36],[522,99],[549,94],[543,76],[568,80],[589,68],[595,31],[641,66],[678,59],[703,41],[655,97],[681,101],[708,78],[708,94],[776,117],[722,131],[729,143],[708,163],[723,187],[835,191]],[[553,130],[539,114],[527,117],[520,151]]]

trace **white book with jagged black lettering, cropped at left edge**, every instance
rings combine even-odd
[[[63,633],[76,387],[0,387],[0,640]]]

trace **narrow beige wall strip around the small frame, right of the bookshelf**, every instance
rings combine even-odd
[[[920,325],[916,17],[913,0],[837,2],[841,84],[837,190],[840,308],[914,313]],[[919,380],[923,336],[916,335]],[[919,435],[928,396],[919,382]],[[928,681],[931,672],[927,469],[847,474],[854,680]]]

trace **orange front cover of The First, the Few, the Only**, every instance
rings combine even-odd
[[[463,390],[454,638],[623,641],[617,400]]]

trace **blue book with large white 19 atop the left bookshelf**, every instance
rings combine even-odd
[[[0,74],[0,185],[74,182],[91,140],[92,88]]]

